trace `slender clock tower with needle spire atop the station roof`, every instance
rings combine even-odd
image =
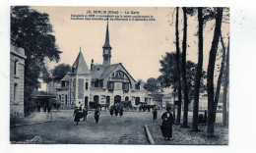
[[[112,47],[109,44],[108,21],[106,25],[105,43],[102,46],[102,48],[103,48],[103,66],[108,66],[110,65],[111,49],[112,49]]]

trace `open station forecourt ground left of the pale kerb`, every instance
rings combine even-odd
[[[140,118],[143,114],[124,112],[123,117],[111,117],[101,111],[99,124],[95,124],[94,112],[89,112],[88,120],[77,126],[73,111],[63,110],[52,113],[51,123],[11,128],[10,140],[23,143],[36,136],[41,143],[149,144]]]

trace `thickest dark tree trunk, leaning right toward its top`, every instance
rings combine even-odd
[[[224,11],[223,8],[217,8],[216,27],[215,27],[212,47],[210,50],[209,64],[207,69],[207,93],[208,93],[207,136],[214,136],[214,127],[215,127],[214,73],[215,73],[216,53],[217,53],[219,39],[221,35],[223,11]]]

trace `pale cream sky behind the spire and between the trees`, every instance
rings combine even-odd
[[[156,21],[109,21],[109,39],[112,47],[111,64],[122,63],[126,70],[136,80],[142,78],[147,81],[150,77],[160,76],[160,60],[165,52],[175,51],[175,9],[166,7],[32,7],[38,12],[49,15],[53,26],[52,34],[56,37],[56,44],[63,53],[58,64],[72,65],[79,54],[80,47],[90,68],[94,59],[96,64],[102,64],[102,45],[105,39],[106,21],[71,20],[71,15],[85,15],[87,11],[119,11],[139,12],[140,16],[154,16]],[[183,35],[183,14],[179,9],[180,49]],[[204,30],[204,64],[207,70],[209,51],[213,39],[209,22]],[[197,63],[198,30],[196,16],[188,16],[187,60]],[[224,34],[229,32],[229,25],[223,24]],[[226,42],[226,36],[224,36]],[[58,65],[48,62],[49,69]],[[45,84],[44,84],[45,87]],[[44,89],[43,85],[42,88]]]

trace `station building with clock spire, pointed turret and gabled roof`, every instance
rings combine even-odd
[[[95,104],[111,106],[120,101],[131,101],[135,106],[149,101],[147,91],[127,72],[122,63],[111,64],[111,49],[107,23],[102,65],[96,65],[92,60],[89,69],[80,48],[72,72],[61,79],[61,87],[57,88],[62,108],[74,108],[79,102],[91,107]]]

